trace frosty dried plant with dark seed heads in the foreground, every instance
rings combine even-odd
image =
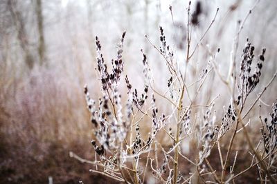
[[[170,12],[172,13],[171,6]],[[277,103],[273,105],[273,112],[270,114],[271,121],[265,119],[266,128],[262,126],[262,136],[258,142],[251,139],[252,130],[247,126],[253,118],[249,119],[248,123],[244,123],[249,112],[255,112],[254,106],[276,78],[276,73],[265,85],[264,90],[258,93],[252,105],[246,106],[249,95],[256,93],[255,88],[260,83],[262,65],[265,62],[265,48],[263,48],[258,62],[254,64],[256,59],[254,46],[247,39],[245,48],[242,50],[240,68],[237,69],[231,65],[229,75],[222,76],[215,62],[217,54],[220,54],[220,49],[217,49],[215,53],[209,52],[211,59],[206,61],[204,68],[197,71],[195,79],[188,79],[186,77],[188,64],[192,62],[190,60],[195,50],[213,25],[218,9],[199,43],[195,44],[196,48],[191,51],[190,29],[192,25],[198,23],[197,19],[201,12],[201,5],[197,4],[197,11],[192,14],[193,18],[188,17],[185,69],[175,59],[175,54],[166,41],[166,31],[162,27],[159,28],[160,47],[154,45],[145,35],[166,62],[170,76],[166,92],[159,92],[157,88],[154,88],[154,70],[150,68],[143,50],[141,50],[145,76],[143,91],[139,92],[134,89],[127,75],[125,76],[126,88],[120,91],[118,85],[122,83],[123,78],[125,32],[118,44],[117,58],[111,60],[111,72],[101,53],[100,41],[96,37],[96,60],[102,87],[102,96],[98,99],[98,103],[91,99],[87,85],[84,87],[95,137],[91,144],[98,155],[95,156],[95,161],[87,161],[95,165],[91,172],[125,183],[145,183],[151,177],[157,183],[231,183],[235,182],[238,176],[244,176],[256,168],[261,183],[276,183]],[[189,3],[188,16],[190,15]],[[240,25],[237,37],[243,23]],[[235,39],[234,45],[238,45],[238,38]],[[233,52],[235,51],[236,48]],[[255,65],[255,70],[253,70],[253,65]],[[238,74],[236,70],[239,70]],[[229,91],[226,94],[231,94],[230,101],[226,104],[227,108],[224,108],[223,112],[215,108],[217,101],[220,101],[220,94],[206,104],[199,104],[197,101],[206,79],[212,73],[216,74],[218,79],[228,87]],[[148,96],[151,97],[148,98]],[[171,107],[171,110],[161,112],[157,101],[162,101],[163,105]],[[148,130],[148,134],[142,134],[142,129],[144,132]],[[170,142],[164,143],[161,136]],[[245,146],[248,147],[248,150],[244,150],[249,154],[250,163],[247,168],[236,167],[241,153],[234,145],[240,142],[241,136],[244,137],[247,143]],[[186,156],[181,150],[181,145],[190,144],[193,141],[196,143],[193,150],[195,154]],[[261,142],[263,142],[263,147],[260,146]],[[222,148],[222,144],[225,145],[225,149]],[[72,152],[71,156],[80,159]],[[214,156],[217,156],[216,160],[219,163],[217,165],[213,161]],[[181,170],[186,167],[184,163],[188,163],[189,167],[193,168],[191,169],[193,172],[185,174]],[[151,171],[152,176],[148,171]]]

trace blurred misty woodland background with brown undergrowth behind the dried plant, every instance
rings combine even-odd
[[[200,2],[202,14],[192,28],[192,48],[210,25],[216,9],[220,11],[188,65],[188,74],[206,65],[207,48],[211,52],[220,48],[217,63],[226,76],[238,21],[256,1]],[[196,3],[192,1],[191,12]],[[116,57],[116,43],[126,30],[125,74],[135,88],[143,88],[143,49],[153,68],[155,87],[164,90],[168,80],[166,63],[145,34],[159,46],[159,26],[163,26],[175,59],[182,65],[187,7],[187,0],[0,0],[0,183],[48,183],[49,177],[54,183],[102,183],[106,178],[89,173],[90,165],[69,157],[73,151],[83,158],[94,158],[90,143],[93,126],[83,94],[87,83],[91,96],[98,99],[101,95],[94,69],[94,38],[99,37],[109,62]],[[256,55],[267,48],[260,88],[277,68],[276,9],[277,1],[260,1],[240,34],[238,63],[247,37],[256,45]],[[207,94],[213,96],[208,89],[215,86],[214,94],[226,91],[224,85],[208,81],[203,101]],[[277,98],[276,89],[274,82],[266,92],[265,103],[271,105]],[[220,110],[229,95],[221,94]],[[265,113],[268,109],[265,107]]]

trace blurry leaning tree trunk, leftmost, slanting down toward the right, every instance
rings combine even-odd
[[[28,68],[32,69],[34,66],[34,59],[28,48],[29,43],[25,23],[21,12],[17,9],[17,2],[18,1],[8,0],[8,8],[12,15],[12,21],[15,23],[17,39],[19,40],[19,45],[24,52],[25,62],[28,65]]]

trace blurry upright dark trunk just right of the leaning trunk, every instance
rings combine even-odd
[[[39,64],[44,63],[45,43],[44,43],[44,18],[42,15],[42,0],[36,0],[35,11],[37,14],[37,29],[39,32]]]

